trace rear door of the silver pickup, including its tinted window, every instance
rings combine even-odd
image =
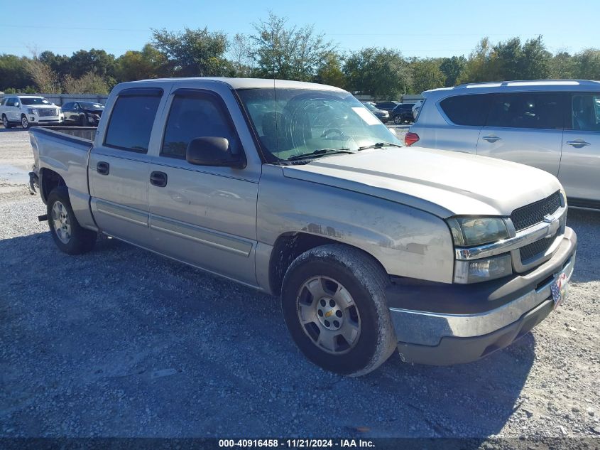
[[[101,230],[142,247],[148,228],[148,149],[163,90],[134,88],[119,92],[89,155],[92,213]],[[98,143],[101,141],[101,143]]]

